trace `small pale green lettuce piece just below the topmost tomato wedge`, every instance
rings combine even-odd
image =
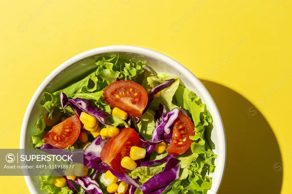
[[[150,112],[145,112],[140,118],[140,122],[136,125],[140,135],[145,140],[151,140],[152,132],[155,128],[154,116]]]

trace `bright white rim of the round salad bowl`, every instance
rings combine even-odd
[[[60,72],[62,72],[62,70],[66,69],[68,66],[76,63],[77,61],[80,61],[80,60],[85,59],[87,57],[91,57],[91,56],[96,55],[96,54],[112,53],[112,52],[133,52],[133,53],[145,55],[147,57],[152,57],[158,61],[161,61],[161,62],[171,66],[173,69],[177,70],[178,72],[182,72],[183,74],[186,75],[188,80],[191,80],[192,83],[200,82],[199,79],[192,72],[190,72],[190,70],[188,70],[185,66],[183,66],[179,62],[175,61],[174,59],[172,59],[172,58],[170,58],[170,57],[168,57],[160,52],[150,50],[147,48],[130,46],[130,45],[112,45],[112,46],[94,48],[94,49],[82,52],[82,53],[68,59],[67,61],[62,63],[60,66],[58,66],[55,70],[53,70],[52,73],[50,73],[48,75],[48,77],[46,77],[46,79],[36,89],[34,95],[32,96],[31,100],[29,101],[29,104],[27,106],[27,109],[25,111],[25,115],[24,115],[24,118],[22,121],[22,126],[21,126],[21,131],[20,131],[20,149],[25,149],[25,134],[27,131],[27,124],[28,124],[28,120],[29,120],[29,115],[32,112],[32,108],[33,108],[35,102],[37,101],[37,99],[41,95],[42,91],[47,86],[48,82],[51,82],[56,75],[58,75]],[[195,85],[194,85],[194,87],[196,87],[196,89],[201,93],[201,96],[204,96],[204,101],[209,107],[208,109],[210,109],[210,107],[213,107],[212,117],[213,117],[213,119],[214,118],[216,119],[216,122],[218,124],[217,130],[216,130],[218,133],[218,138],[222,139],[221,144],[218,145],[220,147],[220,150],[219,150],[220,161],[218,163],[219,165],[216,166],[216,173],[218,175],[217,177],[220,178],[220,181],[212,182],[212,187],[215,187],[214,191],[216,191],[216,193],[217,193],[219,190],[220,184],[222,182],[222,179],[223,179],[223,174],[224,174],[225,164],[226,164],[226,138],[225,138],[224,126],[223,126],[223,122],[222,122],[220,113],[218,111],[218,108],[217,108],[213,98],[211,97],[211,95],[207,91],[207,89],[205,87],[197,87]],[[219,158],[217,158],[216,160],[218,160],[218,159]],[[36,188],[34,186],[31,186],[32,185],[31,177],[24,176],[24,178],[25,178],[25,182],[27,184],[27,187],[29,189],[29,192],[32,194],[38,194]]]

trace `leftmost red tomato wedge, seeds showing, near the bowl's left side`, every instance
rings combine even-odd
[[[43,142],[65,149],[77,140],[81,129],[81,122],[76,114],[59,123],[44,135]]]

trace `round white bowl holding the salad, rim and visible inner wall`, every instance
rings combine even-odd
[[[94,60],[90,59],[90,57],[92,58],[93,56],[102,56],[110,53],[119,53],[124,57],[131,55],[131,57],[135,56],[139,59],[146,59],[147,64],[157,73],[166,73],[170,76],[180,77],[185,86],[199,95],[203,103],[206,103],[207,108],[213,117],[214,127],[211,133],[211,140],[215,144],[213,152],[218,155],[218,158],[215,160],[216,170],[210,175],[213,178],[213,181],[212,188],[208,191],[208,194],[217,193],[225,169],[226,141],[223,123],[212,97],[198,78],[183,65],[164,54],[141,47],[117,45],[96,48],[78,54],[56,68],[41,83],[29,102],[20,132],[20,149],[33,148],[31,135],[35,133],[35,131],[29,129],[35,129],[36,121],[39,116],[45,112],[44,108],[41,108],[40,105],[42,93],[44,91],[54,92],[57,89],[62,88],[65,84],[69,84],[69,82],[72,82],[73,79],[76,79],[81,74],[93,69],[93,65],[88,65],[88,63]],[[25,176],[25,181],[30,193],[46,193],[40,190],[39,181],[33,179],[33,177]]]

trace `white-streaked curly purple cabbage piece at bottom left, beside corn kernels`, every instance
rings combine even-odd
[[[102,191],[95,180],[90,177],[76,177],[74,183],[81,186],[89,194],[102,194]]]

